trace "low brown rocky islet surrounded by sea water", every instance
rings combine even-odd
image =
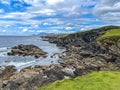
[[[20,56],[34,56],[39,58],[40,56],[46,57],[46,52],[35,45],[23,45],[14,46],[11,49],[11,52],[8,52],[8,55],[20,55]]]

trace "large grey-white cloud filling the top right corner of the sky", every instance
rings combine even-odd
[[[94,15],[97,15],[103,21],[120,20],[120,0],[101,0],[93,10]]]

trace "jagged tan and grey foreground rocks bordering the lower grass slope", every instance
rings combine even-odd
[[[40,86],[64,79],[65,76],[73,77],[73,74],[60,65],[27,67],[7,79],[1,78],[0,87],[1,90],[36,90]]]

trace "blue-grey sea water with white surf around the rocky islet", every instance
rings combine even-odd
[[[46,51],[47,57],[34,58],[34,56],[8,56],[7,52],[11,50],[11,47],[19,44],[34,44],[43,51]],[[18,70],[34,65],[50,65],[58,63],[58,54],[65,51],[65,49],[57,47],[55,44],[51,44],[48,41],[43,41],[40,37],[22,37],[22,36],[0,36],[0,68],[4,68],[9,65],[14,65]],[[56,54],[58,53],[58,54]],[[54,55],[56,54],[56,55]],[[54,57],[51,57],[54,55]]]

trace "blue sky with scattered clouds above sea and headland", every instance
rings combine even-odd
[[[0,35],[73,33],[120,25],[120,0],[0,0]]]

